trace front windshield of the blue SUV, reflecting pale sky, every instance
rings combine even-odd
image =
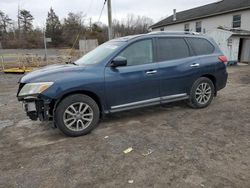
[[[107,42],[100,46],[98,46],[96,49],[90,51],[80,59],[78,59],[75,64],[77,65],[91,65],[91,64],[97,64],[103,61],[105,58],[107,58],[109,55],[111,55],[115,50],[117,50],[119,47],[121,47],[124,44],[124,42]]]

